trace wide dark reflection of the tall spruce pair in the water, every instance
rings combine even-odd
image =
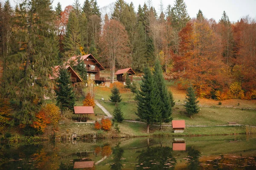
[[[138,164],[136,170],[143,170],[150,167],[153,170],[174,169],[176,159],[172,157],[172,149],[170,147],[148,147],[147,150],[139,152]]]

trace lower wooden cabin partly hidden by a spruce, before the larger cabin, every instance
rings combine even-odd
[[[73,87],[75,86],[76,83],[78,82],[82,82],[82,79],[78,76],[78,74],[76,74],[76,71],[73,70],[72,67],[70,67],[70,65],[65,66],[65,68],[67,69],[68,72],[70,72],[70,80],[73,84]],[[56,65],[53,68],[53,76],[49,76],[50,79],[56,79],[59,76],[59,69],[60,66]]]

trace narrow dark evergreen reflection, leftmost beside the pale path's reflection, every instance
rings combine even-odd
[[[123,157],[124,150],[119,147],[119,144],[116,145],[113,149],[114,163],[110,165],[111,170],[122,170],[121,159]]]

